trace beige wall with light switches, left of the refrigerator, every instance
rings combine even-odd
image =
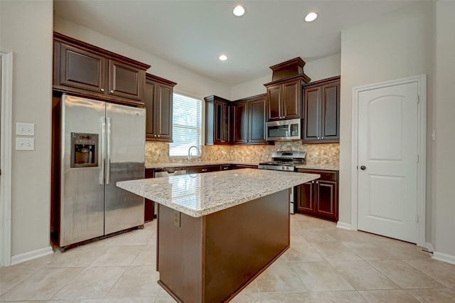
[[[35,150],[12,149],[11,255],[50,250],[52,1],[1,0],[1,49],[14,53],[16,122],[35,124]]]

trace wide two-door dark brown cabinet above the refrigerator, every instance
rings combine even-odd
[[[150,65],[54,33],[53,90],[143,105]]]

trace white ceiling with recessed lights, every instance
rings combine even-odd
[[[412,1],[55,0],[55,14],[228,86],[340,53],[341,30]],[[237,4],[245,15],[234,16]],[[319,18],[304,22],[310,11]],[[218,60],[221,54],[228,60]],[[152,63],[153,69],[153,63]]]

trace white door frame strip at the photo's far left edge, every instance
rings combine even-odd
[[[1,57],[1,178],[0,178],[0,267],[11,265],[11,134],[13,107],[13,53]]]

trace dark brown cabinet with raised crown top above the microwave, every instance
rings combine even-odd
[[[294,58],[270,68],[272,82],[267,87],[267,121],[301,117],[301,86],[310,78],[304,74],[304,60]]]

